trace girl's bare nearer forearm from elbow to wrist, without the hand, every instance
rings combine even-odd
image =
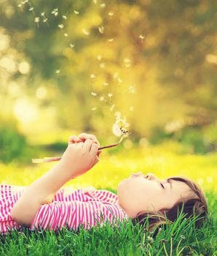
[[[63,162],[58,162],[47,173],[25,189],[12,208],[12,219],[20,224],[30,225],[36,212],[44,203],[50,203],[55,193],[71,180],[71,172]]]

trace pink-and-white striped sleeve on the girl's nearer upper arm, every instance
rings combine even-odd
[[[39,207],[31,222],[30,230],[40,228],[57,230],[61,227],[77,230],[79,225],[83,225],[87,230],[98,224],[103,226],[107,221],[114,224],[122,219],[123,213],[115,204],[103,204],[97,201],[55,201]]]

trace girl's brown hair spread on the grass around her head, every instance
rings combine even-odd
[[[188,178],[171,177],[174,181],[182,181],[189,186],[192,190],[192,197],[179,200],[170,209],[162,209],[161,211],[140,211],[134,219],[132,219],[133,225],[140,224],[145,225],[148,222],[149,230],[153,230],[154,227],[159,227],[167,223],[173,223],[176,219],[183,214],[185,218],[196,217],[195,227],[200,227],[202,222],[208,215],[208,205],[204,193],[200,187]],[[140,214],[140,215],[139,215]]]

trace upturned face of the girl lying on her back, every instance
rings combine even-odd
[[[152,173],[133,173],[117,186],[118,204],[132,218],[139,211],[172,208],[178,200],[190,195],[191,189],[184,182],[170,178],[160,180]]]

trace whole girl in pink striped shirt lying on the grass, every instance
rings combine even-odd
[[[204,194],[186,178],[160,180],[151,173],[133,173],[118,184],[117,195],[94,187],[61,188],[99,161],[99,146],[94,135],[71,136],[60,161],[30,186],[1,185],[0,233],[23,227],[57,230],[65,226],[77,230],[83,225],[90,229],[98,222],[102,226],[106,220],[113,224],[129,218],[133,224],[143,225],[147,214],[152,228],[166,219],[175,221],[182,207],[187,217],[207,216]]]

